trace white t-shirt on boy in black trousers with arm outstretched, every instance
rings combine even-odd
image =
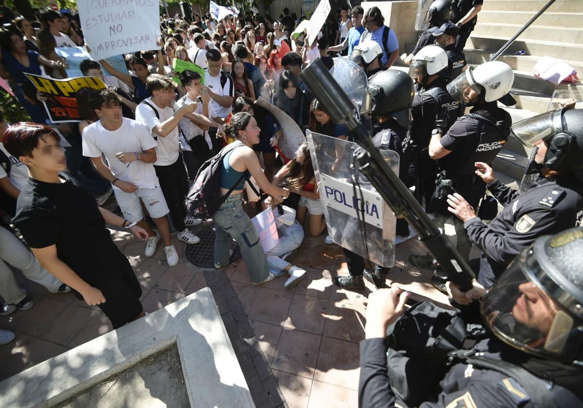
[[[148,98],[145,101],[154,109],[156,109],[158,116],[160,117],[156,117],[156,113],[150,106],[144,103],[138,104],[138,107],[136,108],[136,121],[146,125],[150,132],[152,132],[152,129],[157,125],[161,124],[161,122],[164,122],[167,119],[170,119],[170,117],[174,116],[173,108],[160,108],[155,103],[153,103],[152,98]],[[178,126],[172,129],[166,138],[163,138],[157,133],[152,133],[152,136],[158,142],[158,145],[156,146],[156,156],[158,159],[156,160],[156,163],[154,163],[154,166],[170,166],[170,164],[174,164],[176,160],[178,160],[178,154],[180,153]]]

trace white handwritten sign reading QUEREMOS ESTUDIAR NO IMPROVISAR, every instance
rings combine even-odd
[[[158,48],[159,1],[78,0],[77,5],[93,59]]]

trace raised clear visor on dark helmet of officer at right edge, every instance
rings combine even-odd
[[[512,125],[512,133],[522,143],[533,146],[538,140],[547,140],[563,131],[561,110],[545,112]]]

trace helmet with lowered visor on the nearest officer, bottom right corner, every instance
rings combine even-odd
[[[532,227],[529,219],[518,228]],[[524,225],[521,225],[524,223]],[[504,343],[583,363],[583,229],[539,237],[484,294],[484,322]]]

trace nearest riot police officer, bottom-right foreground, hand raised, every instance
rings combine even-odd
[[[481,298],[473,304],[487,331],[470,350],[462,346],[470,335],[462,314],[419,312],[427,304],[403,313],[408,293],[371,293],[360,342],[359,406],[394,407],[399,400],[425,408],[582,406],[582,256],[581,228],[546,235],[485,294],[476,284],[472,290]],[[419,392],[405,398],[412,390]]]

